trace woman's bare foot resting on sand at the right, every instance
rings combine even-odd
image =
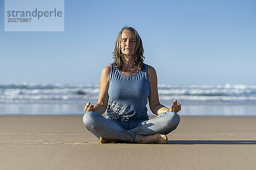
[[[141,139],[141,140],[140,140]],[[157,133],[155,135],[142,136],[140,135],[140,143],[157,143],[157,144],[167,144],[168,139],[166,135]]]

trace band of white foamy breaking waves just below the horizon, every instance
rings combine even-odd
[[[160,100],[256,102],[256,86],[158,85]],[[0,102],[97,100],[99,84],[0,83]]]

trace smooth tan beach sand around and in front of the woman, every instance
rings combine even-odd
[[[0,116],[0,169],[256,168],[256,116],[181,116],[168,144],[99,144],[82,116]]]

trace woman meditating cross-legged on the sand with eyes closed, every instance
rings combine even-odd
[[[132,143],[168,142],[167,134],[180,122],[181,105],[175,99],[171,108],[161,105],[155,69],[143,63],[142,40],[134,28],[124,27],[114,47],[114,62],[102,70],[99,100],[86,103],[83,122],[100,143],[130,141]],[[149,119],[147,99],[152,113]],[[107,109],[107,114],[102,116]]]

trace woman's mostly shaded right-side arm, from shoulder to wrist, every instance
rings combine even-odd
[[[149,108],[152,113],[160,115],[163,112],[169,111],[164,105],[159,102],[158,91],[157,91],[157,73],[153,67],[148,65],[148,80],[149,80]]]

